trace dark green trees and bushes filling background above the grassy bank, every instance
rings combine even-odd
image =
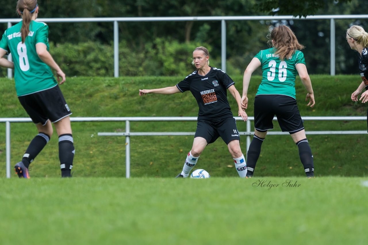
[[[0,4],[2,6],[1,18],[18,18],[15,13],[15,1],[9,4],[8,0],[0,0]],[[305,16],[310,14],[335,15],[337,13],[365,14],[365,8],[361,6],[362,4],[366,6],[368,1],[198,0],[194,2],[164,0],[158,4],[150,0],[39,0],[38,4],[39,18],[256,16],[264,15],[265,12],[273,15]],[[278,10],[272,11],[272,9]],[[62,63],[61,66],[83,60],[89,61],[84,66],[78,63],[75,68],[69,65],[71,74],[77,74],[78,68],[81,71],[81,67],[85,66],[90,67],[90,70],[84,70],[84,73],[95,72],[96,75],[103,75],[106,72],[107,75],[111,74],[113,61],[105,58],[111,58],[113,50],[112,22],[47,24],[50,26],[49,40],[53,43],[52,52],[58,54],[55,59]],[[309,73],[329,73],[330,21],[304,18],[279,21],[226,21],[227,72],[242,74],[254,55],[259,50],[268,48],[266,35],[269,28],[280,24],[290,26],[299,41],[306,46],[303,52]],[[357,69],[355,53],[350,50],[345,40],[346,29],[353,24],[367,29],[367,19],[335,21],[337,74],[355,73]],[[120,62],[123,62],[120,63],[120,75],[141,74],[138,71],[151,72],[145,75],[169,75],[178,71],[173,68],[176,65],[182,67],[177,63],[178,60],[187,61],[191,67],[189,59],[195,45],[210,47],[211,60],[214,61],[212,64],[220,66],[220,21],[119,22],[118,27],[119,55]],[[0,25],[0,32],[3,33],[6,28],[6,24]],[[57,50],[58,48],[61,50]],[[79,54],[79,57],[76,54]],[[66,60],[68,63],[64,64]],[[170,62],[173,64],[167,65]],[[166,66],[162,66],[163,64]],[[172,69],[171,72],[170,69]],[[4,74],[4,69],[0,71]]]

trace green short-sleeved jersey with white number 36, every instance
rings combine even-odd
[[[262,82],[257,94],[283,94],[295,98],[296,64],[305,64],[304,54],[297,50],[290,58],[281,61],[274,48],[259,51],[254,57],[261,61]]]

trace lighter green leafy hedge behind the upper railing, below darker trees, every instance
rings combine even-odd
[[[146,43],[143,49],[128,47],[126,41],[122,41],[119,43],[119,76],[186,76],[195,69],[191,58],[194,48],[198,46],[211,50],[208,44],[179,43],[162,38]],[[51,42],[50,53],[67,76],[114,76],[113,43],[55,45]],[[221,68],[220,57],[210,53],[210,65]],[[245,65],[241,55],[227,60],[227,73],[240,75]],[[7,75],[5,68],[0,68],[0,75]]]

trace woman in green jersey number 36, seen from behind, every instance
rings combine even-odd
[[[245,69],[243,77],[243,109],[248,107],[248,86],[252,73],[262,66],[262,81],[254,99],[254,137],[247,152],[247,177],[252,177],[262,142],[267,131],[273,129],[276,115],[282,131],[289,132],[299,149],[300,160],[307,177],[314,177],[311,148],[305,136],[295,97],[295,77],[298,74],[307,89],[308,105],[315,104],[311,80],[305,66],[304,55],[293,31],[287,26],[273,28],[267,36],[271,48],[259,51]]]

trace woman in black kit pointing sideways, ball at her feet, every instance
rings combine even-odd
[[[221,137],[227,144],[239,176],[245,177],[247,165],[240,149],[236,121],[227,101],[227,89],[238,104],[238,116],[241,116],[244,121],[247,120],[248,116],[241,109],[241,97],[234,86],[234,81],[222,70],[209,66],[209,53],[205,47],[195,48],[192,64],[197,70],[175,86],[139,90],[139,96],[176,94],[189,90],[197,100],[199,107],[197,131],[192,149],[185,160],[183,171],[178,174],[177,178],[188,177],[206,145],[215,142],[218,137]]]

